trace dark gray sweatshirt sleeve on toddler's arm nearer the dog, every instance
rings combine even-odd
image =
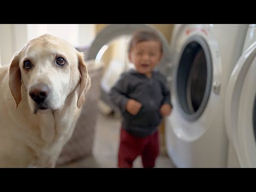
[[[128,90],[128,81],[126,75],[122,74],[117,82],[111,87],[109,92],[110,101],[117,106],[121,112],[126,110],[126,103],[129,98],[126,97]]]

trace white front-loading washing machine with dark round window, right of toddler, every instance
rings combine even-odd
[[[176,167],[227,167],[224,101],[248,25],[174,27],[172,114],[165,118],[167,154]]]

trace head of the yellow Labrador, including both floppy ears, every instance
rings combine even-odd
[[[77,107],[84,101],[91,79],[83,53],[64,39],[45,34],[32,39],[15,54],[9,68],[9,86],[17,103],[21,83],[27,91],[31,111],[58,110],[70,93],[79,88]]]

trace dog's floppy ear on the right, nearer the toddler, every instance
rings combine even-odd
[[[91,78],[89,77],[86,64],[84,62],[84,55],[81,52],[77,53],[78,68],[81,74],[80,89],[77,99],[77,107],[80,108],[85,101],[85,94],[91,87]]]

